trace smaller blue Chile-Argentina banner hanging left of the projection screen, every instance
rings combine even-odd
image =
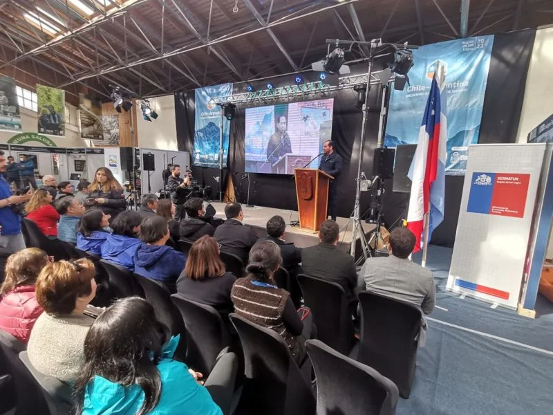
[[[205,86],[196,89],[194,111],[194,155],[192,164],[200,167],[219,166],[219,139],[223,107],[209,103],[212,98],[232,95],[232,84]],[[223,167],[229,154],[230,121],[223,118]]]

